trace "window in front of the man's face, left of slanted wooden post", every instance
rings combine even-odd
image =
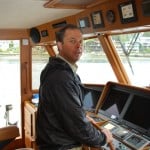
[[[116,81],[114,72],[97,38],[84,41],[84,52],[78,62],[78,70],[83,83],[105,84]]]

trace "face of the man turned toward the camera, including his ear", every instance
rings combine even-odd
[[[83,39],[80,30],[66,30],[63,43],[58,42],[60,55],[70,63],[76,63],[82,55],[82,42]]]

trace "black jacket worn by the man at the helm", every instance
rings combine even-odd
[[[69,64],[50,57],[41,73],[36,121],[40,150],[67,150],[82,144],[100,147],[105,135],[87,120],[83,98],[87,89]]]

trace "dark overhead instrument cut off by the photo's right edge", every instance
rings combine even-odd
[[[150,0],[142,1],[142,12],[144,16],[150,16]]]

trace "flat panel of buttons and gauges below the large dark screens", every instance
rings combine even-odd
[[[115,137],[113,144],[116,150],[142,150],[150,143],[150,141],[143,136],[139,136],[132,130],[121,127],[110,121],[103,124],[102,127],[109,129],[112,132]],[[104,150],[107,150],[108,146],[105,145],[103,148]]]

